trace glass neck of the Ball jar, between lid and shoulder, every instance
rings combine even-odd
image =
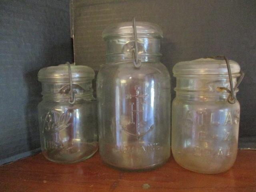
[[[92,82],[73,82],[76,100],[94,100]],[[71,97],[69,82],[42,82],[44,100],[67,102]]]

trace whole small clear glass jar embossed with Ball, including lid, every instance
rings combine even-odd
[[[67,64],[42,68],[43,100],[38,105],[42,154],[53,162],[74,163],[98,150],[97,103],[92,95],[94,71],[71,66],[74,104],[70,104]]]

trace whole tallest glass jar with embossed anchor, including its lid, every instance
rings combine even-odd
[[[170,156],[170,75],[160,62],[162,30],[137,22],[134,66],[132,22],[107,27],[107,61],[97,76],[100,156],[112,166],[142,170]]]

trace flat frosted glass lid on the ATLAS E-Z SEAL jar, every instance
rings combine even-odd
[[[232,74],[240,72],[240,66],[237,62],[229,60]],[[192,61],[178,62],[173,70],[174,76],[177,75],[228,75],[228,68],[225,60],[212,58],[200,58]]]

